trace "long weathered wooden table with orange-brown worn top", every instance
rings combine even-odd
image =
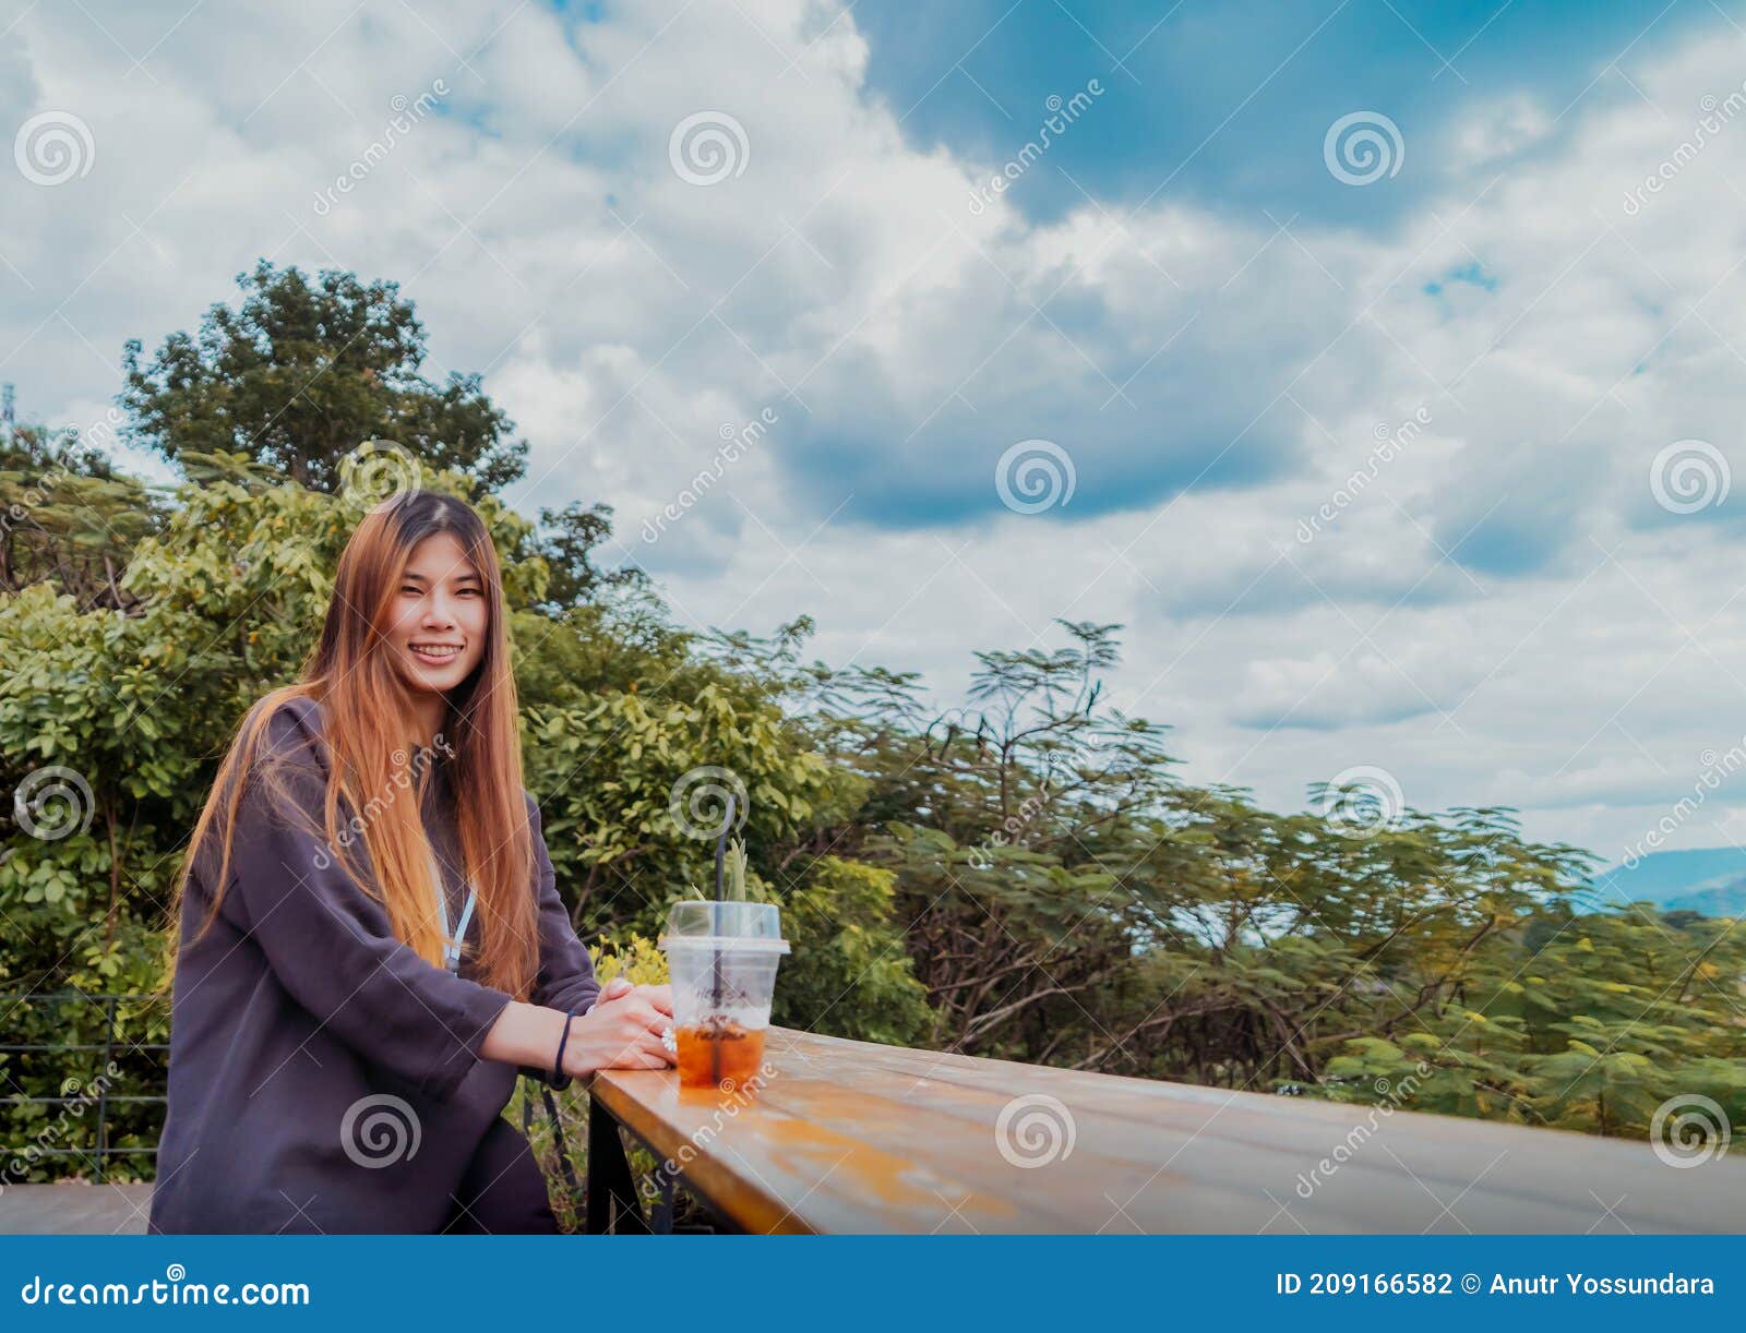
[[[620,1125],[747,1232],[1746,1230],[1746,1162],[1648,1143],[786,1028],[763,1068],[749,1092],[597,1073],[590,1230],[646,1228]]]

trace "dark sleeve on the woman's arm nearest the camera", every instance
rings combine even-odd
[[[321,836],[325,762],[293,708],[269,724],[279,782],[237,808],[230,892],[239,925],[285,991],[363,1059],[431,1097],[452,1096],[510,996],[421,958]],[[354,860],[367,865],[361,846]]]

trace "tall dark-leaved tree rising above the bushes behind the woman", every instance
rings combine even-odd
[[[391,440],[421,464],[496,490],[527,468],[527,443],[480,375],[426,379],[424,326],[398,283],[363,283],[262,260],[237,276],[237,309],[213,305],[197,335],[171,333],[148,366],[126,349],[127,438],[166,459],[241,452],[299,485],[335,490],[340,461]]]

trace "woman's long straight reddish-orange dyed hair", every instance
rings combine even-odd
[[[217,878],[210,881],[211,913],[196,940],[218,914],[246,780],[267,776],[269,785],[283,790],[283,782],[272,778],[272,757],[264,754],[267,724],[286,700],[307,698],[321,708],[321,735],[330,755],[323,834],[333,860],[384,904],[398,939],[431,965],[442,965],[430,843],[419,817],[430,766],[409,762],[405,738],[410,735],[412,696],[389,658],[384,635],[389,604],[400,591],[412,548],[436,532],[454,534],[466,550],[491,612],[480,663],[449,693],[449,721],[436,745],[449,755],[464,874],[478,890],[480,954],[475,975],[482,984],[522,1000],[531,993],[540,967],[534,855],[522,796],[503,574],[491,534],[473,508],[431,490],[402,492],[363,516],[339,558],[321,640],[304,663],[302,677],[265,694],[243,719],[189,839],[176,883],[173,911],[178,928],[171,932],[171,942],[180,939],[180,913],[189,911],[187,886],[196,857],[213,834],[222,839],[222,855]],[[421,771],[409,776],[412,768]],[[360,839],[374,874],[351,853],[351,844]]]

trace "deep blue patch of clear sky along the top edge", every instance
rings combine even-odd
[[[1720,24],[1706,3],[1667,0],[868,0],[856,17],[871,44],[868,82],[920,147],[1002,157],[1044,98],[1102,80],[1098,133],[1067,136],[1053,154],[1058,173],[1014,187],[1034,218],[1081,204],[1074,181],[1109,208],[1133,208],[1168,181],[1173,195],[1220,211],[1357,227],[1386,225],[1432,178],[1409,173],[1386,192],[1355,194],[1329,176],[1322,133],[1355,106],[1432,141],[1489,94],[1526,87],[1563,108],[1627,47],[1653,51]]]

